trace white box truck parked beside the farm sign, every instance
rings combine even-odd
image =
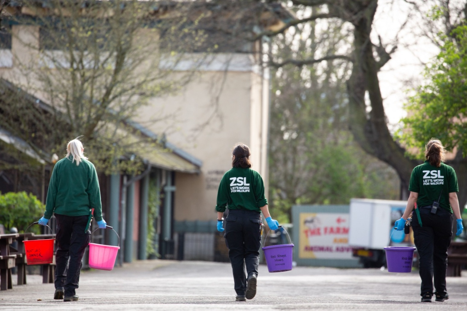
[[[406,205],[407,201],[350,199],[349,246],[363,267],[386,266],[386,246],[414,246],[411,228],[407,235],[394,229]]]

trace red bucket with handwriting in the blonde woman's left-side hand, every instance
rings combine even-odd
[[[34,225],[38,222],[33,222]],[[31,227],[31,225],[28,226]],[[52,229],[47,226],[50,231]],[[26,228],[26,230],[28,230]],[[24,232],[26,232],[24,230]],[[26,262],[28,264],[46,264],[52,263],[54,259],[54,242],[55,239],[42,239],[42,240],[24,240],[24,251],[26,253]]]

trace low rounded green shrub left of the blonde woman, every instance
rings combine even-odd
[[[18,232],[24,232],[41,218],[44,210],[42,202],[33,194],[24,191],[0,194],[0,223],[5,226],[5,231],[16,227]],[[31,226],[28,232],[40,233],[40,226]]]

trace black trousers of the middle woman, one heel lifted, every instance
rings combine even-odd
[[[258,275],[261,247],[261,214],[257,211],[232,209],[226,217],[226,245],[232,264],[237,295],[245,295],[247,277]]]

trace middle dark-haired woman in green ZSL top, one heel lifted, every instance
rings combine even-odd
[[[271,230],[279,228],[279,223],[269,214],[262,177],[250,168],[249,157],[250,149],[247,145],[239,143],[233,147],[232,169],[222,177],[217,193],[219,232],[224,231],[222,216],[228,208],[224,236],[232,265],[236,301],[253,299],[256,295],[262,235],[261,213]]]

